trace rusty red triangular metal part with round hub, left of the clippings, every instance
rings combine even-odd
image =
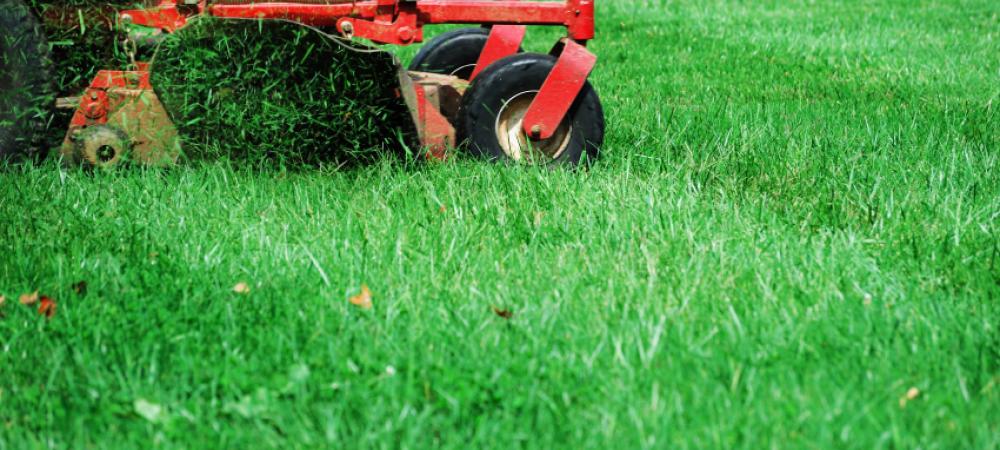
[[[151,166],[176,162],[180,155],[177,128],[149,85],[147,69],[140,65],[137,71],[101,71],[97,74],[80,97],[70,122],[61,149],[64,161],[102,167],[122,161]],[[94,127],[113,129],[125,136],[124,145],[113,146],[114,158],[102,160],[96,150],[88,153],[91,144],[81,146],[81,138],[98,143],[106,140],[103,137],[106,133],[87,131]]]

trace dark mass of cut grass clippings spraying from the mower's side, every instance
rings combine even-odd
[[[412,145],[396,70],[292,23],[203,18],[160,45],[152,82],[188,159],[345,164]]]

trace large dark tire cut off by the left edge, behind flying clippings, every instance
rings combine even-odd
[[[21,0],[0,0],[0,93],[0,160],[44,156],[55,103],[49,46]]]

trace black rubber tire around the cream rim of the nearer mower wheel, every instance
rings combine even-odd
[[[459,142],[475,156],[510,161],[497,138],[497,115],[518,94],[540,90],[555,64],[554,56],[522,53],[480,73],[462,99],[456,127]],[[564,120],[572,125],[569,144],[550,164],[577,166],[596,160],[604,144],[604,110],[589,82]]]

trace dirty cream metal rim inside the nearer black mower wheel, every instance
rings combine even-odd
[[[524,132],[524,116],[538,91],[526,91],[507,100],[496,121],[496,136],[508,158],[525,164],[545,164],[558,159],[569,148],[573,127],[564,120],[551,138],[535,141]]]

